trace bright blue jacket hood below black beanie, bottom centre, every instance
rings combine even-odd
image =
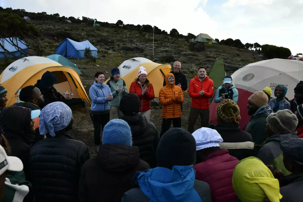
[[[194,189],[196,172],[192,165],[156,167],[134,175],[143,194],[153,202],[202,201]]]

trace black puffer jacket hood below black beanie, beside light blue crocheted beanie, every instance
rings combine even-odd
[[[134,116],[122,116],[120,119],[126,121],[131,127],[132,136],[143,135],[147,128],[148,121],[142,114],[137,113]]]

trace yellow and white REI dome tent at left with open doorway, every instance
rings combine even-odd
[[[19,89],[35,85],[46,71],[51,71],[58,78],[54,85],[58,92],[73,92],[73,98],[82,98],[90,103],[80,75],[75,69],[62,66],[49,58],[30,56],[14,61],[0,75],[0,85],[7,90],[6,106],[16,102]]]

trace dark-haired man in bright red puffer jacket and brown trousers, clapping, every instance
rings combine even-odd
[[[208,127],[209,98],[214,94],[214,82],[206,75],[205,67],[198,68],[198,75],[191,79],[188,88],[191,108],[188,118],[188,131],[194,132],[194,125],[200,114],[201,127]]]

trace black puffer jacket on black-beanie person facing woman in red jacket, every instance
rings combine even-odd
[[[147,162],[151,168],[157,166],[156,150],[159,143],[158,130],[145,116],[138,113],[133,116],[122,116],[131,127],[133,146],[139,147],[140,159]]]

